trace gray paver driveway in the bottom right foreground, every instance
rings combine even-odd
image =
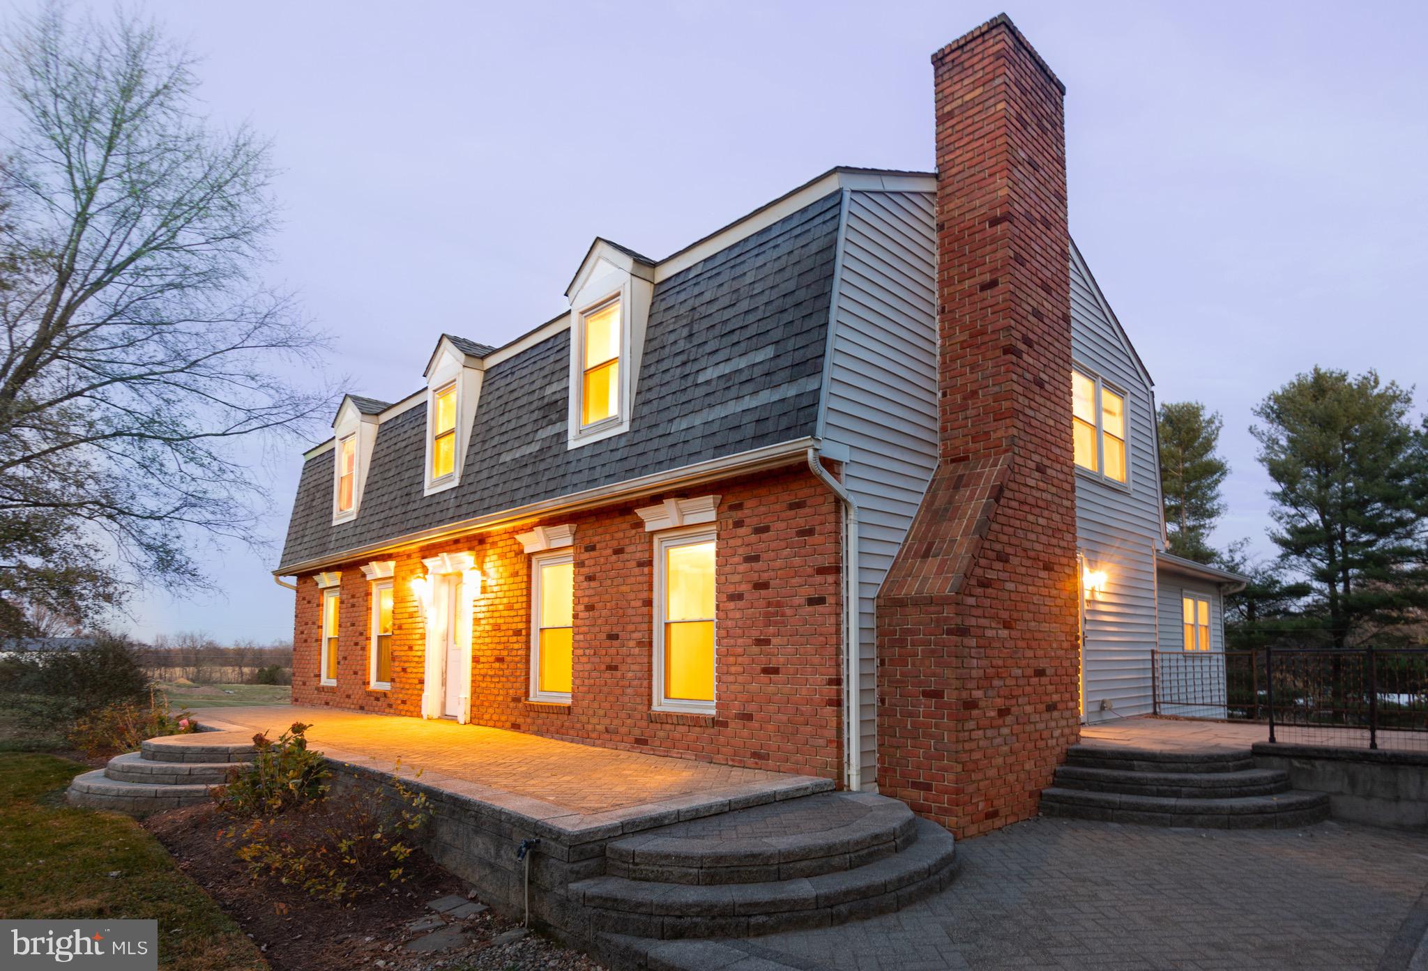
[[[1409,964],[1418,941],[1404,934],[1421,932],[1411,915],[1428,884],[1428,835],[1335,822],[1227,832],[1032,820],[967,840],[958,857],[957,880],[931,900],[754,938],[750,957],[808,971],[1218,971],[1378,968],[1388,952],[1387,971]]]

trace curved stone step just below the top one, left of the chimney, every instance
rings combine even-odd
[[[753,937],[888,914],[951,882],[952,834],[915,820],[917,840],[855,870],[757,884],[660,884],[593,877],[570,885],[591,932],[644,938]]]

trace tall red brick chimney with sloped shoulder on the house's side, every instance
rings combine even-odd
[[[972,835],[1080,731],[1065,87],[1005,14],[932,74],[940,461],[878,597],[878,787]]]

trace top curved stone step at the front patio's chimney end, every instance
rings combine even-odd
[[[854,870],[917,840],[904,803],[823,793],[613,840],[605,874],[663,884],[755,884]]]

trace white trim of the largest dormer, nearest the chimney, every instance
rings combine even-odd
[[[578,448],[630,430],[640,360],[644,356],[644,330],[654,298],[654,264],[638,260],[605,240],[595,240],[575,271],[575,278],[570,281],[565,297],[570,300],[570,407],[565,444]],[[620,408],[613,417],[583,427],[585,317],[611,300],[620,300]]]

